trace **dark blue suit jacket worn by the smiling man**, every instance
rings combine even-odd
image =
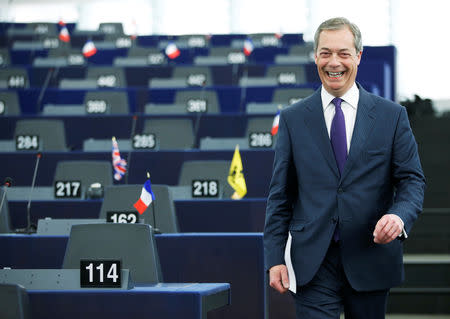
[[[365,91],[340,176],[320,88],[281,112],[264,230],[266,269],[284,264],[288,231],[297,284],[317,272],[339,222],[347,278],[359,291],[403,280],[402,242],[380,245],[373,231],[396,214],[409,233],[422,209],[425,178],[404,107]]]

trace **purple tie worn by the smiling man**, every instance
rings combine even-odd
[[[341,108],[342,99],[336,97],[332,102],[335,105],[336,114],[331,122],[330,139],[334,157],[336,158],[336,164],[339,168],[339,173],[342,175],[345,162],[347,161],[347,134],[345,133],[345,118]],[[336,224],[336,228],[334,229],[333,240],[335,242],[339,241],[338,224]]]

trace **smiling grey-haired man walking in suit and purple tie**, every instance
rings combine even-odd
[[[417,144],[405,108],[355,82],[358,27],[333,18],[314,41],[322,86],[280,115],[264,230],[270,285],[289,288],[290,234],[297,318],[384,318],[422,209]]]

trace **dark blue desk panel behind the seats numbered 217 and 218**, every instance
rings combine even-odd
[[[132,152],[129,164],[129,184],[142,184],[146,172],[152,175],[153,184],[177,185],[181,166],[192,160],[228,160],[231,164],[234,150],[229,151],[137,151]],[[247,184],[247,198],[266,197],[272,174],[273,150],[241,150],[244,176]],[[127,153],[121,153],[128,160]],[[39,163],[36,186],[52,186],[58,161],[104,160],[111,161],[110,152],[45,152]],[[10,176],[14,185],[30,186],[36,155],[33,153],[1,153],[0,180]],[[111,172],[112,174],[112,172]],[[115,182],[124,184],[124,181]],[[27,199],[27,195],[24,194]]]

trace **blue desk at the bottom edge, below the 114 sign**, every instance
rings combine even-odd
[[[229,284],[27,291],[33,319],[206,319],[230,303]]]

